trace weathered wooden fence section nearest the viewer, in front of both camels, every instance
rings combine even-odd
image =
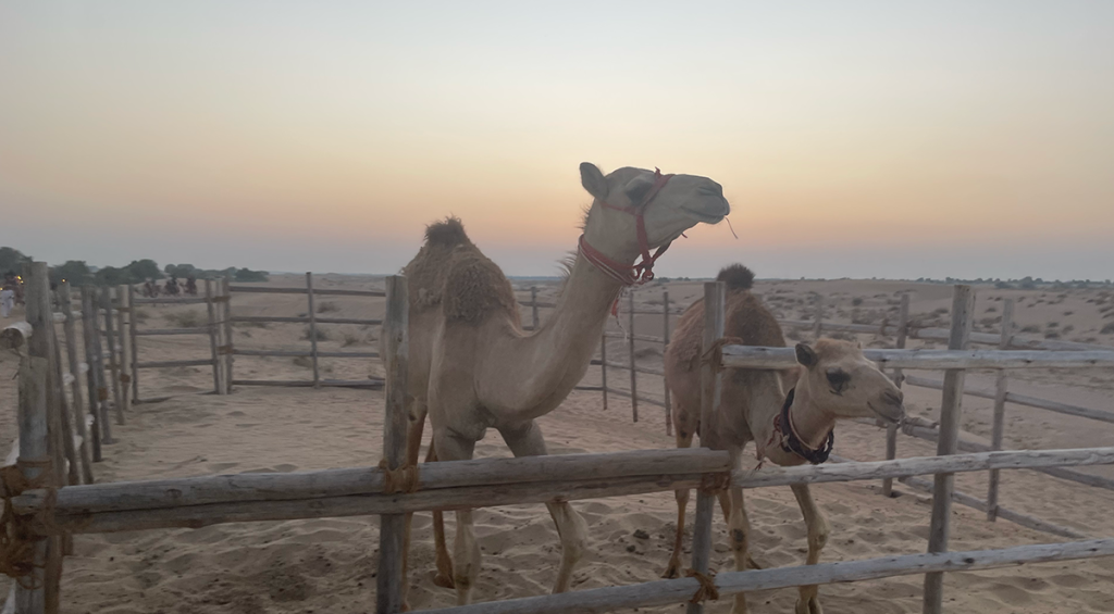
[[[40,266],[41,265],[41,266]],[[947,553],[952,478],[956,473],[1007,468],[1052,469],[1069,466],[1114,464],[1114,448],[1085,448],[1038,452],[983,452],[956,454],[958,442],[957,399],[962,389],[964,370],[974,365],[985,368],[1068,368],[1081,364],[1114,365],[1114,351],[1057,353],[997,351],[973,353],[961,347],[924,353],[917,350],[873,350],[871,357],[890,367],[945,369],[949,403],[938,429],[938,456],[903,458],[874,463],[846,463],[829,466],[768,467],[761,472],[735,473],[725,452],[710,449],[642,450],[628,453],[478,459],[437,463],[423,466],[418,489],[399,494],[388,488],[385,472],[398,469],[402,462],[405,436],[405,384],[409,345],[407,339],[405,279],[388,280],[385,419],[383,433],[384,466],[328,469],[286,474],[243,474],[193,478],[158,479],[120,484],[69,485],[52,475],[59,465],[45,459],[61,457],[58,433],[67,432],[60,422],[65,412],[57,403],[61,380],[51,380],[49,314],[46,305],[46,265],[37,263],[28,271],[30,335],[27,357],[20,368],[20,439],[17,468],[22,475],[19,491],[6,489],[3,496],[16,512],[12,517],[35,518],[30,528],[37,537],[30,542],[29,582],[17,583],[11,603],[14,612],[57,612],[61,556],[67,534],[199,527],[218,523],[292,518],[319,518],[379,514],[380,567],[377,574],[377,612],[395,613],[401,607],[403,577],[400,567],[402,515],[414,511],[459,509],[492,505],[540,503],[633,495],[694,487],[710,474],[732,472],[735,485],[756,488],[786,484],[849,482],[879,478],[911,478],[935,475],[932,522],[929,553],[830,563],[776,570],[727,572],[714,578],[721,595],[773,587],[830,582],[926,574],[925,612],[940,611],[944,572],[985,570],[1020,563],[1069,561],[1114,555],[1114,538],[1020,546],[1004,549]],[[704,340],[712,344],[723,335],[722,284],[705,285]],[[969,314],[969,288],[957,291],[957,314]],[[30,306],[31,304],[36,306]],[[966,343],[964,323],[954,318],[951,346]],[[969,326],[967,327],[969,330]],[[42,334],[46,331],[47,334]],[[22,334],[21,334],[22,335]],[[705,363],[702,370],[702,414],[714,406],[722,368],[784,368],[790,364],[784,348],[725,346],[722,367]],[[53,396],[52,396],[53,395]],[[707,424],[709,420],[703,420]],[[702,434],[703,435],[703,434]],[[702,443],[703,443],[702,437]],[[47,474],[47,477],[40,477]],[[514,485],[507,488],[506,485]],[[30,485],[30,487],[26,487]],[[9,486],[10,487],[10,486]],[[712,499],[710,493],[697,498],[692,567],[706,572],[711,551]],[[7,527],[4,527],[7,529]],[[442,608],[441,613],[529,613],[607,612],[620,607],[642,607],[683,603],[701,588],[696,578],[649,582],[631,586],[596,588]],[[703,603],[690,603],[690,612],[703,611]]]

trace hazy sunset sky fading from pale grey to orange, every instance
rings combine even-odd
[[[1114,2],[0,0],[0,245],[554,275],[578,165],[707,176],[659,276],[1114,277]]]

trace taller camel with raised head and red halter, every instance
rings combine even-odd
[[[489,427],[515,456],[546,454],[535,420],[557,408],[584,376],[623,287],[652,279],[654,260],[683,231],[719,222],[730,211],[723,188],[705,177],[638,168],[604,176],[585,162],[580,181],[594,200],[557,306],[537,330],[522,330],[510,283],[460,220],[427,228],[424,246],[403,271],[410,288],[408,462],[418,460],[427,414],[431,459],[471,458]],[[547,507],[561,543],[553,586],[559,593],[569,587],[587,527],[568,503]],[[472,514],[457,512],[452,559],[439,519],[437,583],[455,586],[458,602],[469,603],[480,566]]]

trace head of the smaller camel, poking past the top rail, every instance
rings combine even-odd
[[[819,339],[797,344],[801,364],[798,390],[807,389],[812,405],[836,418],[905,417],[903,395],[874,363],[862,355],[858,343]]]

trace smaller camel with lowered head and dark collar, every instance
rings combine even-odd
[[[742,265],[720,271],[726,286],[724,337],[751,346],[784,347],[785,338],[773,314],[751,294],[754,274]],[[700,432],[700,360],[703,355],[704,301],[698,299],[677,321],[673,341],[665,350],[665,380],[673,395],[673,424],[677,447],[692,445]],[[798,344],[799,365],[790,370],[730,369],[723,375],[721,399],[709,425],[706,442],[712,449],[731,453],[735,467],[743,448],[754,442],[761,462],[781,466],[819,464],[828,459],[834,440],[836,420],[877,417],[899,422],[905,416],[901,390],[862,355],[858,343],[818,339]],[[786,393],[788,389],[788,393]],[[807,563],[814,565],[828,541],[828,521],[817,507],[807,484],[792,486],[808,527]],[[743,508],[743,489],[720,493],[727,522],[735,568],[756,567],[747,555],[750,525]],[[688,491],[677,491],[677,532],[673,555],[663,577],[677,577],[681,539],[685,526]],[[817,586],[799,587],[797,614],[822,614]],[[746,612],[744,594],[735,596],[734,614]]]

